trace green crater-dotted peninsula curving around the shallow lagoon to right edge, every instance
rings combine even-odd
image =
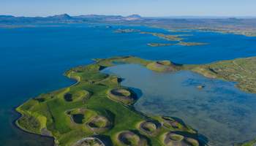
[[[137,94],[121,86],[121,78],[100,72],[116,64],[140,64],[155,72],[191,70],[206,77],[236,81],[244,91],[256,91],[256,76],[251,74],[256,71],[256,58],[205,65],[148,61],[133,56],[94,61],[65,72],[77,80],[74,85],[43,93],[20,105],[16,109],[21,115],[17,126],[33,134],[54,137],[59,146],[206,145],[198,139],[197,131],[181,120],[136,111],[132,104],[138,99]]]

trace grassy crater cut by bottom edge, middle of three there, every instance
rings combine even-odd
[[[121,145],[129,145],[129,146],[146,146],[147,141],[143,137],[138,134],[135,134],[132,131],[121,131],[118,134],[118,142]]]

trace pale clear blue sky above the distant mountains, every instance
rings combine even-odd
[[[256,0],[0,0],[0,15],[256,16]]]

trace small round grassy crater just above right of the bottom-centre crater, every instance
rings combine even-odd
[[[161,124],[157,121],[143,121],[139,124],[140,131],[143,131],[146,134],[149,134],[151,136],[156,135],[159,131]]]

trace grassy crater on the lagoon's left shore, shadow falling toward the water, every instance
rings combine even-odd
[[[136,94],[129,88],[113,88],[108,91],[108,97],[122,104],[133,104],[137,98]]]

